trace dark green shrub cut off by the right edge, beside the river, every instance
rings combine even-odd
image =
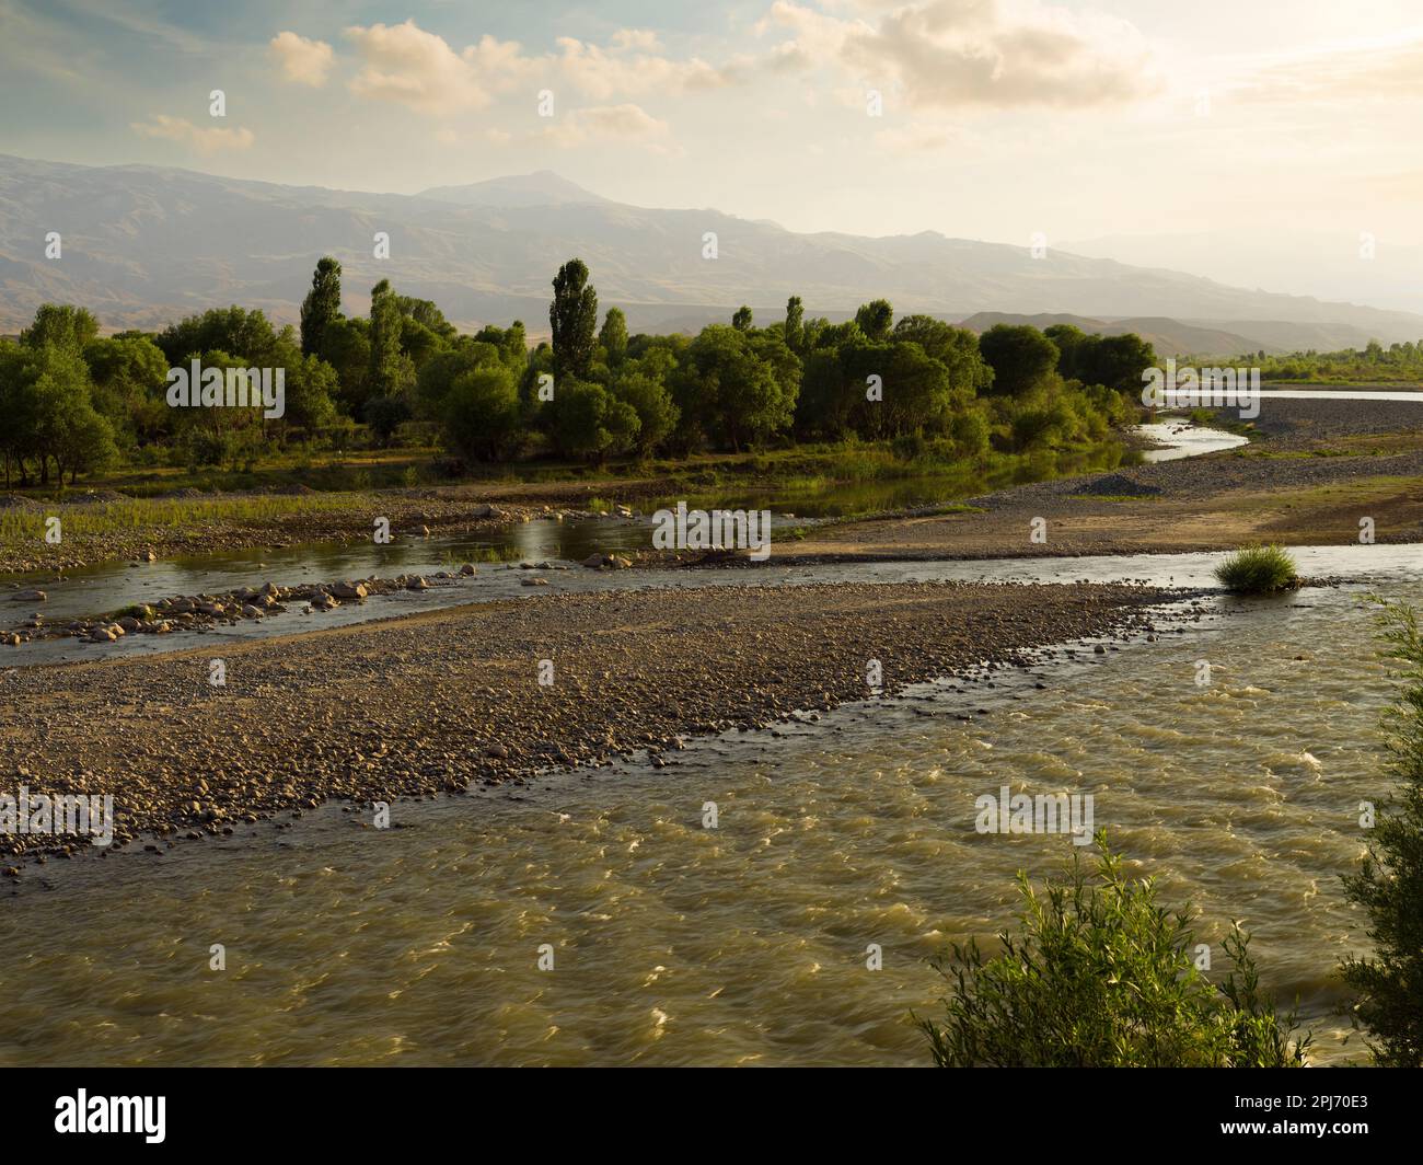
[[[1417,611],[1385,602],[1379,612],[1385,658],[1402,691],[1385,712],[1389,769],[1399,780],[1379,813],[1369,852],[1345,894],[1369,916],[1375,953],[1345,958],[1352,1015],[1368,1030],[1379,1067],[1423,1067],[1423,637]]]

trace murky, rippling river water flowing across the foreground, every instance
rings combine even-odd
[[[1423,602],[1423,548],[1299,558],[1350,581],[1212,600],[1155,642],[992,686],[693,741],[665,768],[398,802],[393,829],[326,806],[161,857],[51,862],[0,900],[0,1064],[926,1064],[909,1018],[936,1010],[926,960],[990,940],[1015,872],[1073,852],[978,833],[975,799],[1005,785],[1091,793],[1133,867],[1201,910],[1215,970],[1242,920],[1315,1061],[1362,1058],[1333,971],[1365,949],[1339,882],[1366,840],[1359,805],[1390,788],[1365,600]],[[1197,585],[1214,561],[844,570]]]

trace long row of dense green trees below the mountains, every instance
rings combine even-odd
[[[579,259],[552,283],[551,340],[522,322],[461,335],[387,279],[370,312],[342,310],[342,266],[320,259],[300,325],[215,308],[161,332],[101,338],[84,308],[44,305],[0,340],[6,481],[61,484],[114,463],[250,467],[275,449],[346,449],[438,434],[462,463],[554,456],[599,463],[794,442],[946,443],[953,454],[1101,440],[1137,416],[1137,336],[998,325],[982,336],[884,299],[854,319],[810,318],[798,296],[758,325],[750,308],[687,335],[629,335],[601,313]],[[282,367],[286,413],[169,409],[169,367]],[[406,426],[414,426],[408,429]]]

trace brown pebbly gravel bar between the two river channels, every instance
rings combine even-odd
[[[211,649],[14,669],[0,675],[0,793],[112,795],[117,843],[155,853],[329,798],[369,823],[376,800],[656,758],[692,733],[867,699],[871,659],[894,692],[1154,631],[1148,607],[1165,597],[1086,584],[541,594],[225,644],[223,686]],[[16,833],[0,853],[18,876],[23,859],[104,850]]]

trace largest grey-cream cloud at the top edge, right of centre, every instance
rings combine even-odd
[[[1141,33],[1104,13],[1037,0],[858,0],[841,7],[872,19],[776,0],[757,30],[785,28],[791,38],[767,61],[899,90],[921,110],[1126,104],[1161,88]]]

